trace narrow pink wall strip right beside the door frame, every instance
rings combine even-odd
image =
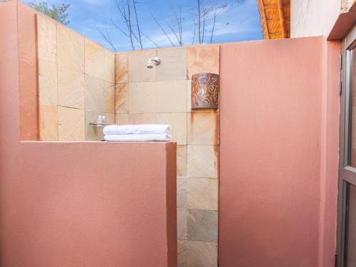
[[[336,246],[337,177],[339,162],[340,43],[323,41],[320,135],[319,267],[333,267]]]

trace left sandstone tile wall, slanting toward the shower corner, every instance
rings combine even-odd
[[[40,140],[102,140],[89,123],[115,122],[115,54],[41,15],[37,41]]]

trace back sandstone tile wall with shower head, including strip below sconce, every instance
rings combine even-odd
[[[190,93],[192,74],[219,74],[219,46],[117,53],[115,66],[116,124],[172,125],[179,266],[217,266],[219,111],[191,110]]]

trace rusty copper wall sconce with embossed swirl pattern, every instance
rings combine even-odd
[[[197,73],[192,75],[192,110],[219,108],[219,75]]]

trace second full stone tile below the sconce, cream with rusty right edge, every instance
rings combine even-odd
[[[216,145],[188,145],[187,176],[217,178],[218,149]]]

